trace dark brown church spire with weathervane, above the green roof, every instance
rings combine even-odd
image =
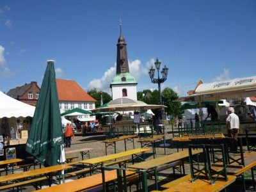
[[[122,18],[119,19],[120,22],[120,36],[118,38],[117,53],[116,53],[116,75],[121,73],[129,73],[127,49],[124,36],[122,35]]]

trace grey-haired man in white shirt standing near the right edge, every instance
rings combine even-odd
[[[234,108],[228,108],[228,117],[226,120],[226,127],[228,129],[228,137],[230,140],[230,151],[237,152],[237,135],[239,131],[239,118],[234,113]]]

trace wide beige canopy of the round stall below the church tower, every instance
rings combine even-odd
[[[146,109],[161,109],[165,108],[162,105],[150,105],[140,100],[134,100],[129,98],[118,98],[111,100],[108,104],[104,104],[97,109],[92,111],[135,111],[135,110],[146,110]]]

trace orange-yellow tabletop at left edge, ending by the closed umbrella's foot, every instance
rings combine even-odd
[[[40,175],[45,173],[58,172],[60,170],[67,170],[68,168],[72,168],[72,166],[67,164],[58,164],[58,165],[48,166],[48,167],[40,168],[36,170],[30,170],[28,172],[20,172],[12,175],[3,175],[0,177],[0,182],[5,182],[8,180],[15,180],[15,179],[22,179],[22,178],[32,177],[35,175]]]

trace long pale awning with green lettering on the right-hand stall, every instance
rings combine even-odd
[[[256,95],[256,76],[203,83],[195,90],[195,94],[176,99],[182,101],[221,100],[253,97]]]

